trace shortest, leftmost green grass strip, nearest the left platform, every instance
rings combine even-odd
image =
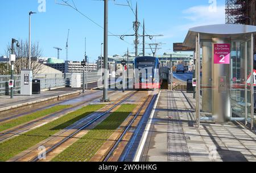
[[[49,108],[49,109],[45,109],[45,110],[42,110],[42,111],[37,111],[37,112],[31,113],[31,114],[26,115],[26,116],[19,117],[18,119],[8,121],[6,123],[0,124],[0,132],[2,132],[3,130],[7,130],[7,129],[13,128],[15,126],[18,126],[20,124],[27,123],[29,121],[38,119],[40,117],[52,114],[54,112],[61,111],[61,110],[65,109],[65,108],[68,108],[68,107],[70,107],[70,106],[59,105],[59,106],[55,106],[55,107],[52,107],[52,108]]]

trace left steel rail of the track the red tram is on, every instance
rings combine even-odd
[[[114,105],[112,107],[110,107],[107,111],[100,113],[100,115],[97,115],[95,118],[93,118],[92,120],[90,120],[88,123],[82,125],[79,129],[75,130],[75,132],[69,134],[68,136],[65,136],[62,140],[60,140],[59,142],[57,142],[56,144],[52,145],[51,147],[48,147],[48,149],[46,150],[46,155],[48,155],[49,153],[51,153],[53,150],[55,150],[57,147],[63,145],[65,142],[67,142],[68,140],[70,140],[71,138],[74,138],[77,134],[79,134],[82,130],[88,128],[90,125],[97,123],[98,120],[100,120],[102,117],[104,117],[105,115],[108,115],[108,113],[110,113],[111,111],[113,111],[113,109],[117,108],[118,106],[120,106],[122,103],[126,102],[127,100],[129,100],[132,96],[134,96],[135,94],[137,94],[139,91],[135,91],[133,93],[131,93],[128,96],[125,96],[125,98],[123,98],[121,101],[119,101],[118,103],[114,103]],[[68,130],[68,129],[67,129]],[[67,130],[65,130],[63,133],[67,132]],[[40,161],[40,159],[38,158],[38,155],[35,156],[34,158],[30,159],[29,162],[38,162]]]

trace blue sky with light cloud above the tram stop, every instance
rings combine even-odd
[[[42,0],[39,0],[42,1]],[[104,2],[93,0],[73,0],[77,9],[93,19],[104,24]],[[56,0],[61,2],[61,0]],[[209,10],[215,4],[214,0],[138,0],[131,1],[135,10],[138,2],[139,21],[143,18],[146,32],[150,35],[164,35],[147,43],[165,43],[158,54],[172,51],[172,43],[182,42],[191,27],[205,24],[225,23],[224,0],[217,0],[216,9]],[[69,0],[72,4],[72,0]],[[135,16],[127,6],[126,0],[109,1],[109,31],[115,35],[133,34]],[[6,45],[11,38],[28,39],[28,11],[36,11],[32,16],[32,42],[39,41],[44,57],[56,57],[53,47],[63,48],[60,58],[65,59],[65,43],[69,35],[69,60],[81,61],[84,57],[84,38],[87,40],[87,54],[90,61],[96,60],[101,54],[103,29],[90,22],[77,11],[68,6],[61,6],[55,0],[46,0],[46,12],[39,12],[38,0],[1,0],[0,1],[0,55],[5,54]],[[139,30],[142,33],[142,28]],[[109,54],[125,54],[127,48],[134,52],[134,37],[125,37],[125,41],[109,36]],[[142,39],[141,43],[142,43]],[[139,50],[141,51],[141,50]],[[151,50],[147,50],[148,53]]]

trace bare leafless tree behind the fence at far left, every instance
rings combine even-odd
[[[11,51],[11,45],[7,45],[6,54]],[[14,62],[14,73],[20,74],[20,70],[29,68],[28,59],[28,41],[19,40],[19,47],[14,47],[14,53],[16,55],[16,61]],[[31,44],[31,69],[33,74],[38,74],[42,70],[43,65],[37,60],[42,56],[42,49],[39,48],[39,43]]]

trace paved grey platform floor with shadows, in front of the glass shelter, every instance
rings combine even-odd
[[[197,128],[195,104],[193,94],[160,92],[141,161],[256,161],[254,132],[236,121],[226,125],[202,123]]]

